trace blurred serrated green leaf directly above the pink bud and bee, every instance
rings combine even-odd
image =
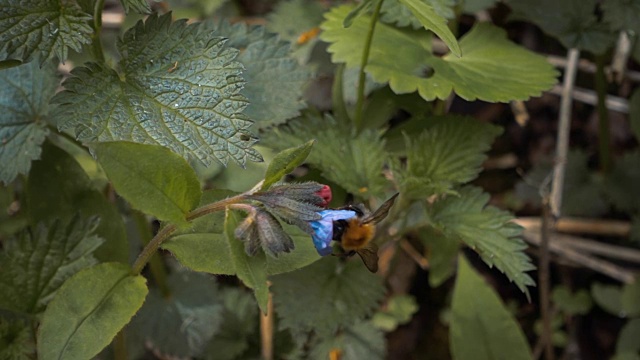
[[[264,141],[275,148],[296,146],[315,139],[314,151],[307,158],[327,179],[353,194],[381,195],[388,182],[382,176],[387,159],[384,141],[377,131],[363,130],[357,137],[334,118],[305,114],[286,127],[274,129]]]

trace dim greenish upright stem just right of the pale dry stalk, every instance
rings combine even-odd
[[[607,78],[604,74],[605,57],[597,55],[596,58],[596,93],[598,94],[598,154],[600,159],[600,170],[609,173],[611,170],[611,150],[609,127],[609,113],[607,111]]]

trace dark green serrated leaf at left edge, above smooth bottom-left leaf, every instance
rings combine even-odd
[[[97,264],[93,251],[104,242],[95,235],[99,219],[40,223],[3,243],[0,252],[0,308],[36,314],[62,283]]]

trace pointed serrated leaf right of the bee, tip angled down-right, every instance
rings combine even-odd
[[[449,195],[433,204],[433,226],[447,237],[464,241],[529,297],[527,286],[535,282],[526,272],[535,267],[524,253],[527,245],[518,237],[522,228],[511,222],[511,214],[487,206],[488,202],[489,195],[479,188],[464,187],[459,196]]]

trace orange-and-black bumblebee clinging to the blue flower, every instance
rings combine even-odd
[[[376,224],[387,217],[396,197],[398,194],[393,195],[371,214],[367,214],[361,206],[348,205],[338,209],[353,211],[356,214],[349,219],[333,221],[332,240],[340,244],[344,250],[343,256],[358,254],[369,271],[378,271],[378,246],[371,240],[376,234]]]

